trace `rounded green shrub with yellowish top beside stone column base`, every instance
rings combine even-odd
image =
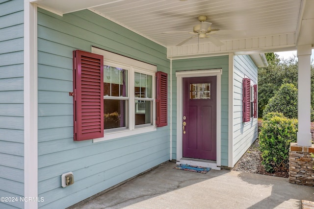
[[[262,164],[267,172],[288,168],[290,142],[296,142],[297,119],[273,116],[264,120],[259,135]]]

